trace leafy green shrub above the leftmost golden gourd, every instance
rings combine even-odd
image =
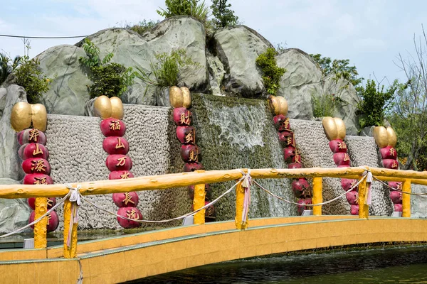
[[[25,55],[21,58],[19,67],[14,70],[15,83],[25,89],[30,104],[40,102],[41,94],[48,92],[51,82],[51,79],[38,69],[39,65],[37,58],[29,59],[28,55]]]

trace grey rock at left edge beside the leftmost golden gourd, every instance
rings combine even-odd
[[[26,92],[16,84],[5,89],[0,89],[0,107],[3,114],[0,119],[0,178],[20,180],[23,175],[18,156],[19,143],[16,140],[16,132],[11,127],[11,111],[17,102],[26,102]]]

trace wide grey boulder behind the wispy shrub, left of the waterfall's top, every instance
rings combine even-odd
[[[191,90],[206,89],[205,31],[203,24],[194,18],[167,18],[143,36],[124,28],[109,28],[90,35],[89,39],[100,48],[101,58],[113,53],[112,62],[134,70],[139,68],[148,74],[151,72],[150,64],[157,62],[157,54],[184,49],[186,55],[200,65],[198,69],[183,71],[184,84]],[[146,92],[146,84],[139,78],[135,78],[132,88],[123,94],[122,100],[128,104],[156,104],[154,89]]]

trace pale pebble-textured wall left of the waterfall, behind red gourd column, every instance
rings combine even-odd
[[[173,124],[170,109],[130,104],[125,104],[124,107],[123,121],[127,126],[125,138],[130,144],[128,155],[133,161],[132,173],[135,177],[180,172],[176,170],[182,168],[180,158],[170,155],[179,155],[179,145],[169,143],[170,136],[175,134],[174,131],[171,133],[174,126],[170,125]],[[54,182],[108,179],[110,172],[105,167],[107,153],[102,150],[104,137],[100,131],[100,121],[98,117],[48,115],[46,135],[49,139],[46,146],[51,154],[51,176]],[[144,219],[168,219],[189,210],[189,200],[184,189],[138,192],[138,195],[137,207]],[[111,195],[88,198],[105,209],[117,211]],[[63,227],[62,214],[62,209],[59,209],[60,228]],[[114,216],[98,212],[90,204],[83,204],[79,215],[80,229],[120,228]]]

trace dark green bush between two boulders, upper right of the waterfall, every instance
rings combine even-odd
[[[258,56],[255,63],[263,72],[264,87],[268,94],[275,95],[280,87],[280,77],[285,74],[285,68],[278,67],[275,55],[278,53],[274,48],[268,48],[265,53]]]

